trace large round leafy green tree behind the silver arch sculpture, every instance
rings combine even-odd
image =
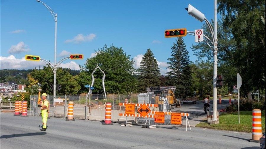
[[[92,83],[91,74],[98,65],[106,74],[105,89],[106,93],[130,93],[136,90],[137,80],[133,74],[133,60],[130,55],[126,55],[122,48],[114,47],[113,44],[107,47],[95,50],[95,57],[87,59],[85,67],[81,68],[78,78],[79,84],[82,86],[81,92],[88,92],[84,87],[86,84]],[[95,78],[93,93],[103,94],[102,77],[103,73],[99,69],[93,74]]]

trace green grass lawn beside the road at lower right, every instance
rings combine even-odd
[[[252,133],[252,111],[240,111],[240,124],[238,120],[238,112],[222,113],[219,115],[219,124],[209,125],[206,122],[201,122],[196,127],[230,130]],[[262,133],[265,132],[265,111],[261,111]]]

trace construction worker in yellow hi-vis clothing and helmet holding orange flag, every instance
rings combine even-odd
[[[48,118],[49,102],[46,98],[47,98],[47,94],[43,93],[42,94],[43,102],[41,105],[38,105],[38,107],[41,107],[41,114],[42,114],[42,121],[43,121],[43,128],[40,129],[40,131],[46,131],[46,128],[47,128],[46,123],[47,123],[47,118]]]

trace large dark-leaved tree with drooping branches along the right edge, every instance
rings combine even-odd
[[[250,95],[264,89],[265,82],[265,0],[219,0],[218,12],[236,41],[234,65],[242,77],[241,92]],[[249,97],[251,98],[251,96]]]

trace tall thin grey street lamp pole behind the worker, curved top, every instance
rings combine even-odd
[[[54,67],[53,67],[53,99],[56,98],[56,28],[57,28],[57,14],[55,14],[53,12],[53,10],[48,6],[46,5],[45,3],[43,3],[42,1],[40,0],[36,0],[40,3],[42,3],[52,14],[53,16],[53,19],[55,20],[55,41],[54,41]]]

